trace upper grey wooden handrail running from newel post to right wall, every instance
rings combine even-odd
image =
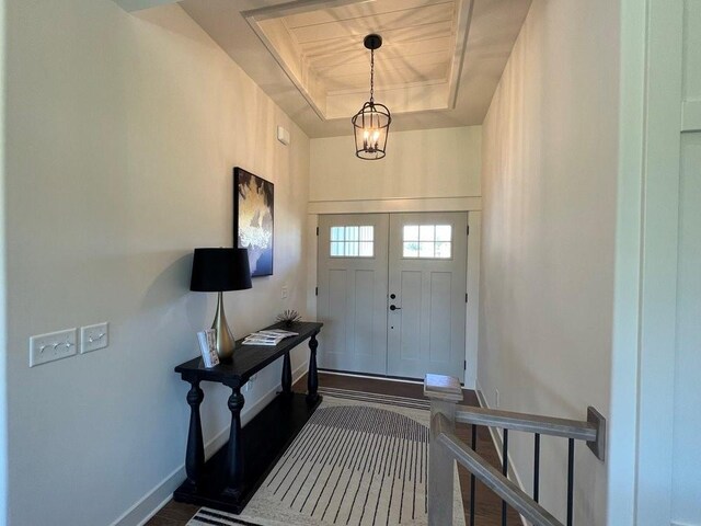
[[[590,422],[482,408],[461,407],[460,411],[456,411],[456,421],[463,424],[487,425],[527,433],[539,433],[541,435],[564,436],[584,442],[597,442],[599,434],[598,427]]]

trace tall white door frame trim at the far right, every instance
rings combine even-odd
[[[669,524],[683,2],[622,4],[608,524]]]

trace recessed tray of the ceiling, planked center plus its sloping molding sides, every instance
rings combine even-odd
[[[346,2],[291,14],[285,5],[248,19],[321,118],[347,116],[354,95],[369,92],[370,54],[363,45],[369,33],[383,39],[376,100],[394,113],[452,107],[470,0]]]

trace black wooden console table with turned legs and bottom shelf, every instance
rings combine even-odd
[[[191,385],[187,392],[189,433],[185,453],[187,479],[175,491],[173,496],[176,501],[241,513],[321,402],[317,393],[317,334],[322,325],[297,322],[288,328],[277,323],[267,329],[287,329],[299,335],[287,338],[276,346],[242,345],[242,340],[239,340],[231,362],[208,369],[202,358],[194,358],[175,367],[175,373]],[[306,340],[309,340],[310,351],[307,396],[291,390],[289,359],[290,351]],[[241,410],[245,401],[241,388],[279,357],[283,357],[281,392],[241,428]],[[206,464],[199,421],[199,404],[205,398],[199,388],[200,381],[217,381],[232,391],[228,403],[231,411],[229,442]]]

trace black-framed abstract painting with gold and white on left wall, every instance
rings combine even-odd
[[[252,277],[273,274],[273,183],[234,168],[233,242],[249,249]]]

